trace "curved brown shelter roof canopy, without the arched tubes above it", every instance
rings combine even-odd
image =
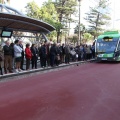
[[[0,13],[0,28],[10,28],[18,31],[49,33],[55,28],[50,24],[27,16]]]

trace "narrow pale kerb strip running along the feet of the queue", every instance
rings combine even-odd
[[[13,77],[13,76],[30,74],[30,73],[34,73],[34,72],[47,71],[47,70],[52,70],[52,69],[64,68],[64,67],[68,67],[68,66],[75,66],[75,65],[79,65],[79,64],[85,64],[85,63],[88,63],[88,62],[92,62],[92,61],[94,61],[94,59],[87,60],[87,61],[70,62],[70,64],[63,63],[63,64],[60,64],[59,66],[55,66],[55,67],[45,67],[45,68],[31,69],[31,70],[28,70],[28,71],[24,70],[24,71],[19,72],[19,73],[8,73],[8,74],[0,75],[0,78],[9,78],[9,77]]]

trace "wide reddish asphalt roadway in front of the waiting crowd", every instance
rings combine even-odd
[[[0,120],[120,120],[120,64],[89,63],[1,82]]]

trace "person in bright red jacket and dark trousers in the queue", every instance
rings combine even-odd
[[[26,70],[29,70],[30,69],[30,61],[32,59],[32,52],[30,50],[30,44],[26,44],[25,56],[26,56]]]

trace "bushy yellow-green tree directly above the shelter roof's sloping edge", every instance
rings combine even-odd
[[[53,25],[56,28],[56,31],[59,27],[61,27],[61,24],[58,22],[58,15],[55,6],[51,0],[44,2],[42,7],[39,7],[34,1],[29,2],[25,8],[27,16]],[[52,36],[56,36],[56,33],[52,32],[50,35],[48,35],[48,37]]]

